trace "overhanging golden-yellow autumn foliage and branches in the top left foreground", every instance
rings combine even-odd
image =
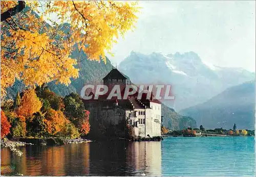
[[[118,1],[1,1],[1,10],[2,95],[16,79],[26,86],[69,84],[78,77],[74,46],[90,60],[106,61],[112,44],[134,28],[138,12],[136,3]]]

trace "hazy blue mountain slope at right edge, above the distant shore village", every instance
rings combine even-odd
[[[202,124],[207,129],[232,129],[236,123],[238,129],[254,130],[255,80],[230,87],[181,113],[193,117],[198,126]]]

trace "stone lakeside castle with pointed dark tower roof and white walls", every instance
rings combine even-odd
[[[109,89],[114,85],[119,85],[121,95],[124,89],[131,82],[124,75],[113,68],[104,78],[103,84]],[[127,99],[106,99],[109,92],[99,95],[94,99],[95,94],[91,91],[88,96],[89,100],[83,100],[84,105],[90,111],[90,122],[105,122],[108,126],[118,125],[121,121],[126,120],[134,129],[135,135],[142,138],[153,138],[161,136],[161,103],[157,99],[146,98],[146,93],[142,93],[141,99],[138,98],[138,91],[129,95]]]

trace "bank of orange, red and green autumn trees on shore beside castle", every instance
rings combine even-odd
[[[22,95],[21,99],[19,95]],[[81,105],[81,98],[77,94],[72,95],[76,96],[75,104]],[[17,94],[15,102],[8,102],[2,107],[2,138],[9,133],[18,137],[47,135],[77,138],[80,134],[87,135],[90,132],[90,112],[84,110],[82,104],[80,116],[74,119],[76,111],[71,113],[72,110],[65,110],[70,105],[64,105],[62,99],[48,88],[37,88],[36,91],[28,89],[22,94]]]

